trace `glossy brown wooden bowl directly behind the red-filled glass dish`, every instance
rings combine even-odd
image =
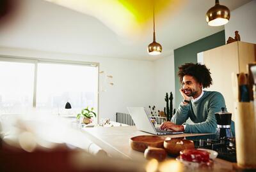
[[[195,148],[194,142],[180,138],[172,138],[164,141],[165,150],[172,155],[179,155],[181,150]]]

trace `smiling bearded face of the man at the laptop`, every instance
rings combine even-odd
[[[196,98],[202,92],[202,83],[198,83],[193,76],[185,75],[182,80],[182,89],[187,96]]]

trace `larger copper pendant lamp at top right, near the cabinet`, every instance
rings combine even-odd
[[[220,5],[219,0],[215,1],[215,6],[210,8],[206,13],[206,21],[208,25],[220,26],[227,24],[230,18],[230,10],[227,6]]]

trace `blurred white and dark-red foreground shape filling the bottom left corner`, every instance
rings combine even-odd
[[[66,118],[0,115],[0,134],[0,171],[145,171],[109,158]]]

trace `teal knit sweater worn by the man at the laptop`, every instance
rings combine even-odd
[[[196,102],[184,105],[180,103],[171,122],[182,125],[188,118],[194,124],[186,123],[184,133],[215,133],[217,122],[214,113],[226,107],[224,97],[220,92],[204,91],[204,95]]]

